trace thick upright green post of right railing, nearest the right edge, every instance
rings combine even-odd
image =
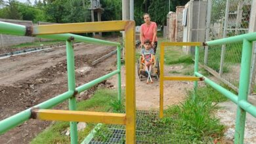
[[[249,74],[251,65],[251,52],[252,44],[247,39],[244,39],[241,61],[240,82],[238,90],[238,103],[241,100],[247,101],[247,95],[249,90]],[[236,111],[236,133],[235,143],[244,143],[244,127],[245,127],[246,111],[238,105]]]

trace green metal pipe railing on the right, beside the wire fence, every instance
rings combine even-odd
[[[225,45],[228,43],[237,43],[243,42],[242,46],[242,62],[241,62],[241,72],[240,72],[240,82],[239,82],[239,90],[238,96],[232,94],[232,92],[226,90],[219,84],[207,79],[202,74],[196,71],[196,67],[198,65],[195,63],[195,75],[198,77],[204,77],[204,82],[221,92],[226,98],[230,99],[234,103],[238,105],[238,109],[236,112],[236,133],[235,133],[235,143],[244,143],[244,129],[245,129],[245,115],[246,112],[256,117],[256,107],[251,105],[251,103],[247,102],[248,90],[249,90],[249,71],[251,65],[251,55],[252,55],[252,41],[256,41],[256,33],[247,33],[244,35],[237,35],[234,37],[228,37],[224,39],[218,39],[215,41],[208,41],[205,44],[208,46],[213,45]],[[198,60],[198,48],[196,48],[196,58]],[[195,83],[195,88],[197,84]]]

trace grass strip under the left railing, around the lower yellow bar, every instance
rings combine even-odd
[[[113,107],[116,104],[116,90],[100,89],[96,90],[93,97],[86,101],[77,103],[78,111],[123,111],[121,106]],[[112,104],[110,104],[112,103]],[[120,108],[121,107],[121,108]],[[120,111],[121,111],[120,110]],[[31,143],[70,143],[70,136],[65,135],[69,127],[69,122],[54,122],[46,130],[37,135]],[[87,127],[78,133],[78,141],[81,143],[83,139],[91,132],[95,124],[87,123]]]

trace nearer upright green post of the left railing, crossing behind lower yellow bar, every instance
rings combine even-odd
[[[75,93],[75,60],[73,42],[74,37],[70,37],[70,39],[66,41],[66,52],[68,69],[68,91]],[[75,111],[75,96],[72,96],[72,98],[69,99],[69,108],[71,111]],[[70,139],[72,144],[77,144],[77,122],[70,122]]]

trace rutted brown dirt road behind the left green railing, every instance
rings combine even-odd
[[[95,67],[91,67],[91,62],[114,49],[114,46],[76,45],[74,51],[77,86],[110,73],[116,63],[116,56],[108,58],[104,63],[98,63]],[[0,67],[0,120],[67,91],[66,46],[12,56],[1,60]],[[87,95],[95,88],[89,90]],[[80,99],[87,98],[82,97],[84,98]],[[54,109],[66,107],[67,101]],[[0,135],[0,143],[29,143],[49,124],[47,121],[28,120]]]

